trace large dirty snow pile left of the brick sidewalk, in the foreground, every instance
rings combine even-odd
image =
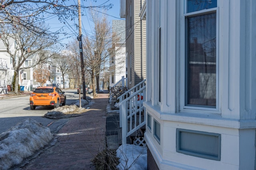
[[[7,170],[44,147],[52,139],[48,127],[26,119],[0,134],[0,169]]]

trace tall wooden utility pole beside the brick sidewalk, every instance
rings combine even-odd
[[[80,49],[80,61],[81,61],[81,73],[82,73],[82,85],[83,85],[83,99],[86,100],[86,88],[85,88],[85,70],[84,70],[84,57],[83,57],[83,46],[82,46],[82,19],[81,19],[81,5],[78,0],[78,21],[79,21],[79,49]]]

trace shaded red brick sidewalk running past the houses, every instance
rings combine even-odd
[[[108,94],[98,94],[90,111],[60,129],[56,144],[24,166],[24,170],[94,170],[91,161],[106,148]]]

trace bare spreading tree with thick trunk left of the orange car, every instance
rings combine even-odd
[[[28,22],[34,21],[28,18]],[[41,28],[48,29],[43,23],[37,23]],[[40,30],[34,29],[36,34],[22,25],[3,23],[0,25],[0,39],[6,47],[7,53],[12,59],[12,66],[16,72],[14,92],[18,93],[18,76],[21,68],[30,68],[36,66],[41,61],[50,57],[50,47],[54,44],[57,37],[50,36]],[[13,48],[14,45],[14,48]],[[23,67],[26,59],[32,58],[33,63],[30,66]]]

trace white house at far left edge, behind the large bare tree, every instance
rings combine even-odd
[[[14,51],[15,41],[10,40],[10,51]],[[12,69],[12,60],[7,53],[7,49],[2,41],[0,41],[0,94],[11,91],[14,70]]]

